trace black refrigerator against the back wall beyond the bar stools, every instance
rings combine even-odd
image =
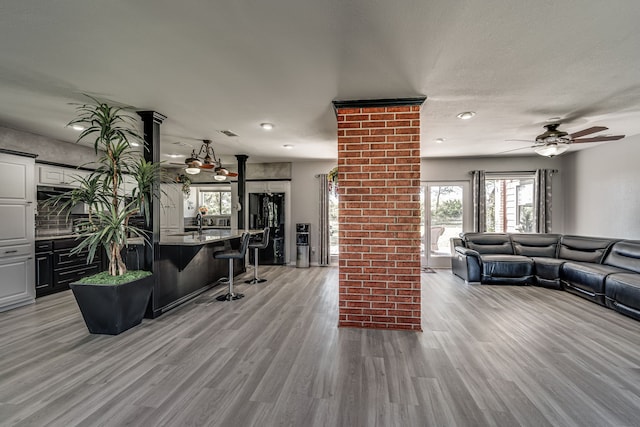
[[[260,264],[285,263],[284,193],[249,193],[249,228],[269,227],[269,244],[258,251]],[[249,253],[253,263],[253,251]]]

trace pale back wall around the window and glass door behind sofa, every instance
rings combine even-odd
[[[472,170],[487,172],[534,171],[536,169],[556,169],[553,176],[553,200],[551,228],[554,233],[564,233],[564,191],[565,171],[562,156],[548,158],[529,157],[464,157],[447,159],[423,159],[421,181],[471,181]],[[470,196],[469,196],[470,197]],[[470,198],[467,199],[470,203]]]

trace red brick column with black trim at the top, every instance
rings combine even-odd
[[[422,330],[420,108],[424,100],[334,102],[340,327]]]

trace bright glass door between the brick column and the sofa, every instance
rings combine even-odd
[[[470,219],[469,183],[428,182],[423,187],[422,265],[451,267],[450,239],[466,231]]]

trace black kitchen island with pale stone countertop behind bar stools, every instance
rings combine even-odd
[[[228,261],[214,259],[213,254],[237,248],[243,231],[217,229],[163,236],[157,247],[159,259],[154,268],[156,278],[146,317],[158,317],[226,277]],[[257,234],[262,230],[249,232]],[[235,260],[233,269],[235,274],[244,273],[244,260]]]

